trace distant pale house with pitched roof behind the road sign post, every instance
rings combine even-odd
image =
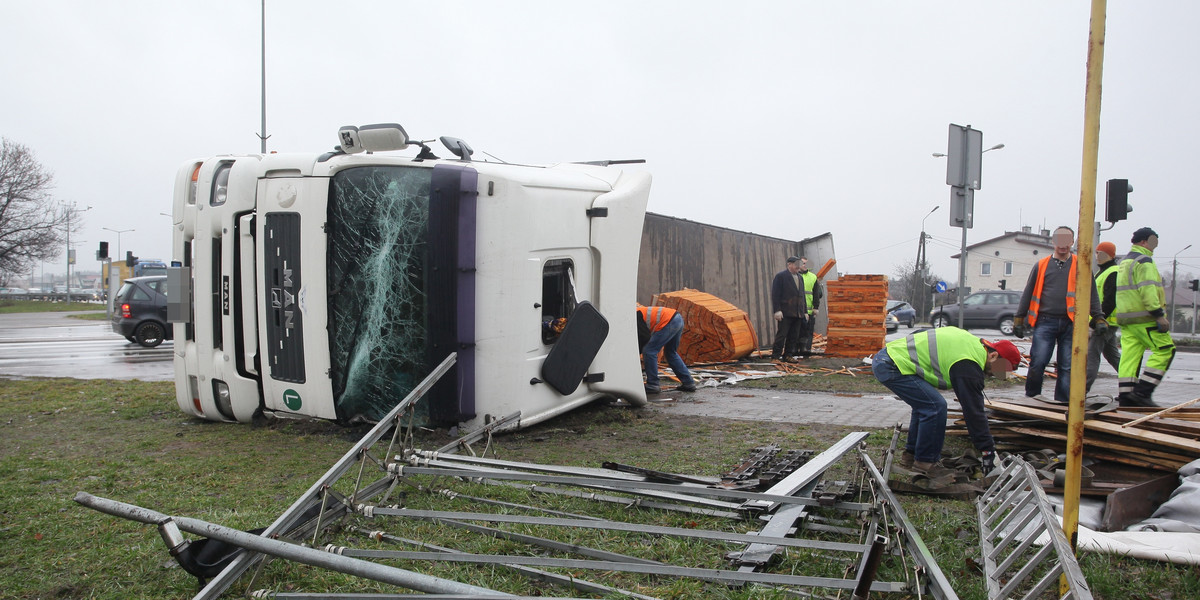
[[[1001,289],[1000,282],[1003,281],[1004,289],[1021,292],[1033,266],[1050,254],[1054,254],[1050,229],[1032,233],[1032,228],[1025,226],[1020,232],[1006,232],[1004,235],[967,246],[965,284],[972,292],[979,292]],[[950,258],[958,260],[959,254]],[[950,287],[954,284],[950,283]]]

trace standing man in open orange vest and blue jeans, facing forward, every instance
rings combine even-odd
[[[1072,252],[1075,244],[1075,230],[1060,227],[1054,230],[1054,254],[1038,260],[1030,272],[1030,281],[1021,294],[1021,304],[1013,317],[1013,334],[1025,337],[1025,326],[1032,329],[1033,343],[1030,346],[1030,371],[1025,377],[1025,395],[1042,397],[1042,382],[1045,378],[1046,365],[1057,348],[1058,380],[1055,382],[1054,402],[1070,402],[1070,346],[1075,323],[1075,277],[1079,258]],[[1104,312],[1100,311],[1099,295],[1096,293],[1096,280],[1088,277],[1092,286],[1091,308],[1087,311],[1093,328],[1108,328]]]

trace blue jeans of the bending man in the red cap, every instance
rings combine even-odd
[[[942,394],[919,376],[901,373],[886,348],[871,360],[871,371],[880,383],[912,407],[905,450],[920,462],[942,460],[946,444],[946,398]]]

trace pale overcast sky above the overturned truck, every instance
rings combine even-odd
[[[258,152],[260,1],[0,1],[0,136],[91,206],[72,241],[169,259],[187,160]],[[949,124],[983,131],[974,244],[1079,223],[1091,4],[266,0],[268,148],[395,121],[511,162],[644,158],[649,210],[799,240],[841,272],[952,280]],[[1109,2],[1097,215],[1134,186],[1158,263],[1200,272],[1200,2]],[[481,152],[482,151],[482,152]],[[445,154],[445,152],[443,152]],[[1196,244],[1183,251],[1188,244]],[[1182,251],[1182,252],[1181,252]],[[47,271],[61,272],[65,258]]]

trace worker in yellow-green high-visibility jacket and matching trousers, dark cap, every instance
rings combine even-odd
[[[1121,377],[1117,398],[1123,407],[1157,407],[1152,396],[1175,359],[1166,293],[1154,265],[1158,234],[1148,227],[1133,233],[1133,247],[1117,266],[1117,324],[1121,325]],[[1142,358],[1150,359],[1142,367]]]

